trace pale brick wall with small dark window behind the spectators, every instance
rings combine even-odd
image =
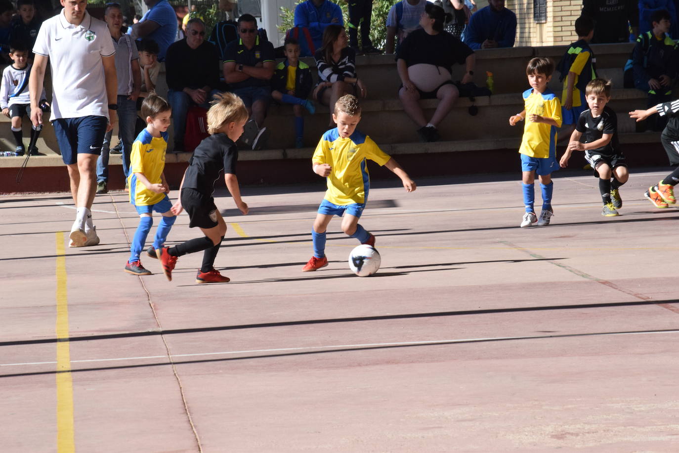
[[[577,39],[574,22],[583,7],[582,0],[547,0],[547,22],[533,19],[533,0],[507,0],[504,5],[516,14],[515,46],[558,46]]]

